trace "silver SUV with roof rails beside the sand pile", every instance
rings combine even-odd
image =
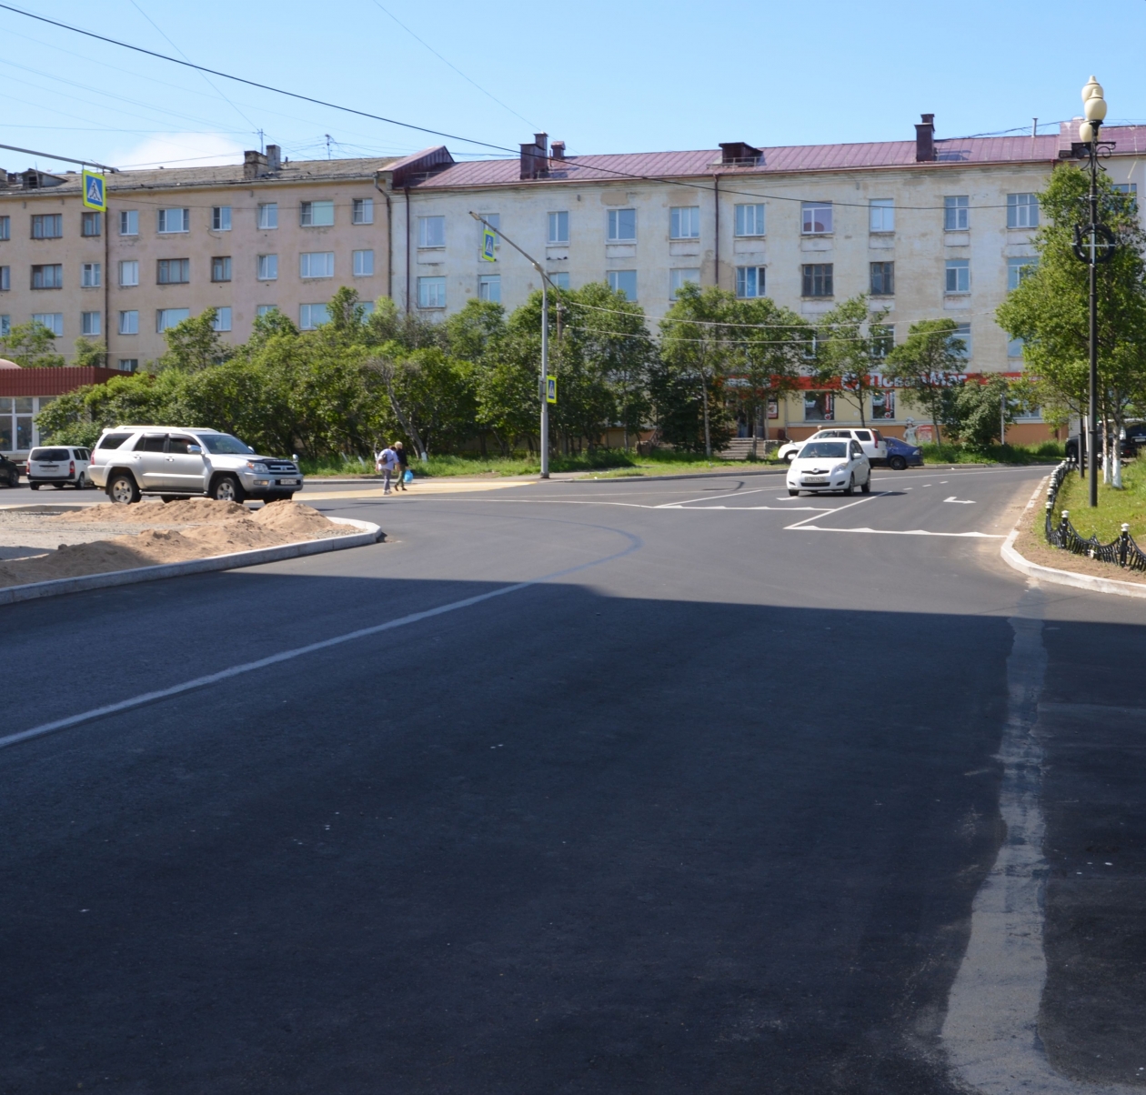
[[[303,488],[292,460],[258,456],[238,438],[185,426],[116,426],[92,450],[87,474],[112,502],[206,495],[220,502],[289,498]]]

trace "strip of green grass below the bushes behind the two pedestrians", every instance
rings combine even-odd
[[[647,456],[626,452],[623,449],[598,449],[580,456],[552,456],[549,470],[552,472],[601,472],[606,476],[672,474],[673,472],[714,471],[722,467],[744,467],[745,460],[711,460],[694,452],[657,450]],[[762,460],[748,462],[749,466]],[[363,457],[333,457],[321,460],[303,459],[299,465],[304,475],[374,475],[374,462]],[[414,474],[430,478],[444,475],[536,475],[541,472],[541,460],[536,456],[481,457],[477,454],[460,456],[431,456],[429,460],[410,460]]]

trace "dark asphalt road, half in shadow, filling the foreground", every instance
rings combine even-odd
[[[0,1092],[1146,1085],[1143,602],[999,561],[1043,473],[320,488],[386,542],[5,607],[0,736],[138,702],[0,749]]]

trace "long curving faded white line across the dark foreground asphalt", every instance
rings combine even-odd
[[[120,700],[117,703],[107,703],[103,707],[95,707],[87,711],[80,711],[78,715],[69,715],[66,718],[57,718],[50,723],[42,723],[39,726],[31,727],[30,730],[24,730],[19,733],[8,734],[6,738],[0,738],[0,749],[3,749],[6,746],[17,745],[21,741],[28,741],[30,738],[41,738],[45,734],[54,733],[57,730],[68,730],[72,726],[79,726],[81,723],[89,723],[93,719],[103,718],[105,715],[116,715],[119,711],[129,711],[148,703],[155,703],[157,700],[166,700],[171,696],[182,695],[185,692],[194,692],[197,688],[204,688],[207,685],[219,684],[220,682],[229,680],[233,677],[240,677],[244,673],[254,672],[258,669],[266,669],[268,665],[277,665],[280,662],[293,661],[296,657],[301,657],[304,654],[314,654],[319,651],[329,649],[332,646],[342,646],[344,643],[352,643],[354,639],[364,639],[374,635],[380,635],[383,631],[393,631],[395,628],[405,628],[411,623],[421,623],[423,620],[431,620],[434,616],[442,616],[446,613],[457,612],[460,608],[470,608],[473,605],[480,605],[482,601],[493,600],[495,597],[504,597],[507,593],[518,593],[533,585],[541,585],[544,582],[552,582],[556,578],[566,577],[570,574],[576,574],[580,570],[587,570],[590,567],[598,567],[605,562],[612,562],[615,559],[621,559],[622,557],[630,554],[643,546],[641,538],[638,536],[634,536],[631,533],[625,533],[620,529],[610,529],[610,531],[619,533],[628,539],[629,546],[623,551],[619,551],[612,556],[606,556],[604,559],[594,559],[591,562],[582,562],[575,567],[566,567],[564,570],[555,570],[552,574],[545,574],[537,578],[529,578],[526,582],[516,582],[512,585],[505,585],[501,589],[490,590],[488,593],[478,593],[474,597],[455,600],[448,605],[439,605],[437,608],[427,608],[424,612],[415,612],[407,616],[399,616],[397,620],[387,620],[385,623],[377,623],[370,628],[359,628],[356,631],[347,631],[345,635],[336,635],[333,638],[322,639],[319,643],[308,643],[306,646],[296,646],[293,649],[280,651],[277,654],[269,654],[267,657],[260,657],[253,662],[243,662],[238,665],[230,665],[227,669],[220,669],[218,672],[207,673],[203,677],[195,677],[193,680],[183,680],[180,684],[172,685],[170,688],[158,688],[155,692],[144,692],[140,695]]]

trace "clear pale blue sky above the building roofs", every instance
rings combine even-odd
[[[3,0],[0,0],[3,2]],[[120,41],[417,132],[299,102],[0,8],[0,143],[116,167],[509,155],[534,132],[570,155],[1057,132],[1093,72],[1107,123],[1146,124],[1146,0],[1090,33],[1061,0],[792,5],[684,0],[13,0]],[[1098,10],[1098,9],[1096,9]],[[1093,45],[1088,45],[1093,40]],[[480,143],[494,145],[484,148]],[[60,170],[0,149],[0,166]]]

